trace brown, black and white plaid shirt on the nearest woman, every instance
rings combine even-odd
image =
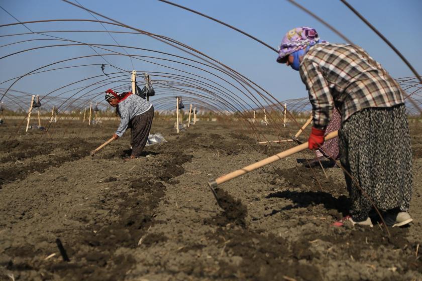
[[[404,103],[397,82],[356,45],[316,44],[303,57],[299,73],[309,91],[317,128],[327,126],[333,105],[344,122],[364,108]]]

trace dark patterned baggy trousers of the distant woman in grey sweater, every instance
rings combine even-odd
[[[130,121],[132,156],[140,157],[148,141],[151,130],[152,119],[154,118],[154,106],[147,112],[136,115]]]

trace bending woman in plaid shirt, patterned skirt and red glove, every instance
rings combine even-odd
[[[388,225],[410,223],[412,156],[397,82],[362,48],[320,41],[309,27],[284,36],[277,62],[299,71],[309,92],[313,110],[309,149],[323,145],[334,106],[340,111],[341,164],[352,201],[345,220],[372,226],[372,201]]]

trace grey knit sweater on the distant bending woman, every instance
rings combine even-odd
[[[130,120],[139,114],[147,112],[151,106],[151,102],[135,94],[131,94],[125,100],[119,102],[117,106],[117,113],[119,113],[121,119],[116,134],[118,136],[122,136],[128,128]]]

